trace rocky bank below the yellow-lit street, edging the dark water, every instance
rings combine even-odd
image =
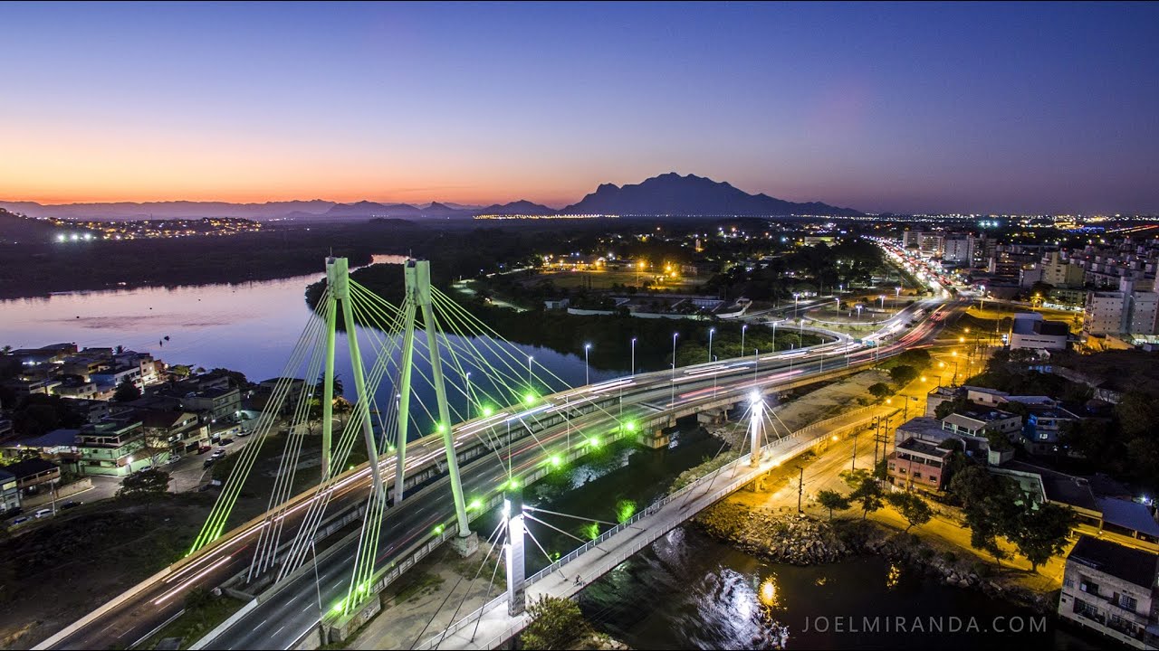
[[[954,553],[939,554],[914,534],[894,532],[872,521],[843,518],[830,522],[722,502],[701,512],[693,524],[717,540],[778,563],[815,565],[853,556],[882,556],[946,585],[978,590],[1041,613],[1054,610],[1049,594],[996,579],[989,564],[963,561]]]

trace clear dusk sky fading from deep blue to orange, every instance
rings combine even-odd
[[[1159,213],[1159,5],[0,3],[0,198]]]

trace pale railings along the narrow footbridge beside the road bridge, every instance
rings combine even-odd
[[[779,438],[779,439],[777,439],[774,441],[770,441],[768,444],[766,444],[765,446],[763,446],[760,448],[761,449],[761,455],[764,455],[764,453],[766,453],[766,452],[773,452],[775,449],[779,449],[779,448],[788,445],[789,441],[801,442],[800,439],[802,439],[802,437],[804,437],[806,434],[809,434],[811,432],[816,432],[819,429],[826,427],[826,426],[833,424],[836,420],[848,419],[852,416],[855,416],[855,415],[859,415],[859,414],[865,414],[865,412],[870,411],[873,409],[874,409],[873,405],[870,405],[870,407],[862,407],[860,409],[854,409],[853,411],[848,411],[848,412],[841,414],[839,416],[833,416],[831,418],[825,418],[824,420],[817,420],[816,423],[811,423],[809,425],[806,425],[804,427],[801,427],[800,430],[796,430],[796,431],[794,431],[790,434],[781,437],[781,438]],[[860,423],[858,423],[854,419],[854,422],[851,423],[851,424],[852,425],[857,425],[857,424],[860,424]],[[817,437],[812,437],[812,438],[816,439]],[[809,441],[809,442],[811,442],[811,441]],[[580,556],[584,555],[585,553],[590,551],[591,549],[598,548],[602,542],[607,541],[612,536],[614,536],[618,533],[627,529],[628,527],[630,527],[632,525],[634,525],[637,521],[642,520],[643,518],[647,518],[649,515],[653,515],[653,514],[657,513],[665,505],[671,504],[672,502],[676,502],[676,500],[680,499],[681,497],[686,496],[688,492],[697,490],[698,488],[700,488],[701,485],[704,485],[704,482],[707,481],[709,484],[712,484],[713,482],[716,481],[717,477],[720,477],[722,474],[726,474],[726,473],[732,473],[734,476],[736,476],[736,473],[735,473],[736,469],[738,467],[748,465],[750,458],[751,458],[751,454],[745,454],[745,455],[743,455],[743,456],[741,456],[741,458],[738,458],[738,459],[736,459],[736,460],[734,460],[734,461],[731,461],[731,462],[729,462],[729,463],[727,463],[727,465],[717,468],[716,470],[713,470],[712,473],[708,473],[707,475],[698,478],[697,481],[690,483],[688,485],[686,485],[686,487],[684,487],[684,488],[681,488],[681,489],[679,489],[679,490],[677,490],[677,491],[675,491],[675,492],[672,492],[672,493],[670,493],[668,496],[664,496],[661,499],[657,499],[656,502],[654,502],[653,504],[648,505],[642,511],[639,511],[637,513],[635,513],[634,515],[632,515],[630,518],[628,518],[624,522],[620,522],[619,525],[617,525],[617,526],[607,529],[606,532],[602,533],[596,539],[590,540],[586,543],[582,544],[581,547],[577,547],[576,549],[571,550],[570,553],[568,553],[567,556],[563,556],[559,561],[556,561],[556,562],[552,563],[551,565],[544,568],[542,570],[539,570],[538,572],[531,575],[530,577],[527,577],[525,579],[525,586],[531,586],[532,584],[534,584],[538,580],[542,579],[544,577],[551,575],[552,572],[555,572],[555,571],[560,570],[561,568],[563,568],[568,563],[575,561],[576,558],[578,558]],[[764,470],[761,470],[761,471],[764,471]],[[749,482],[752,481],[752,477],[750,476],[752,474],[756,474],[756,473],[744,473],[744,474],[742,474],[739,476],[739,478],[734,478],[734,481],[731,481],[728,484],[726,484],[724,487],[717,489],[715,492],[713,492],[708,497],[708,503],[715,503],[715,502],[722,499],[724,496],[731,495],[732,492],[736,492],[736,490],[738,488],[741,488],[744,484],[746,484],[746,483],[749,483]],[[618,549],[615,551],[615,556],[614,556],[614,558],[618,558],[618,561],[615,561],[615,565],[619,565],[620,563],[622,563],[624,561],[626,561],[627,558],[629,558],[633,554],[640,551],[644,547],[648,547],[649,544],[651,544],[653,542],[655,542],[655,540],[656,539],[654,539],[654,537],[646,537],[646,539],[639,540],[639,541],[636,541],[636,542],[634,542],[634,543],[632,543],[629,546],[625,546],[625,547]],[[454,635],[455,632],[462,630],[464,628],[466,628],[468,626],[472,626],[475,621],[478,621],[483,615],[483,613],[486,613],[487,610],[490,610],[491,608],[498,607],[500,605],[504,604],[505,601],[506,601],[506,595],[505,594],[501,594],[500,597],[496,597],[495,599],[491,599],[487,604],[483,604],[482,606],[480,606],[479,608],[476,608],[474,612],[469,613],[468,615],[464,616],[459,621],[457,621],[457,622],[452,623],[451,626],[449,626],[438,637],[430,638],[427,642],[424,642],[424,643],[415,646],[415,649],[435,649],[447,636]],[[503,631],[500,635],[493,637],[493,639],[488,642],[487,649],[495,649],[498,644],[501,644],[505,639],[509,639],[510,637],[515,636],[515,634],[519,632],[519,630],[522,630],[522,629],[523,629],[523,624],[522,623],[512,624],[512,626],[508,627],[508,629],[505,631]]]

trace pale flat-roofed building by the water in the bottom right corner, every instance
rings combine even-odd
[[[1159,649],[1159,555],[1080,536],[1066,556],[1058,615],[1135,649]]]

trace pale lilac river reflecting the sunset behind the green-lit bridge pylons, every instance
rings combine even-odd
[[[398,257],[398,256],[395,256]],[[381,258],[377,258],[381,261]],[[402,266],[399,266],[402,273]],[[0,301],[0,345],[38,348],[58,342],[74,342],[79,346],[116,346],[150,352],[166,363],[185,364],[194,368],[225,367],[241,371],[250,381],[276,378],[283,373],[299,335],[318,316],[306,305],[306,285],[323,277],[322,273],[297,276],[280,280],[243,283],[236,285],[202,285],[191,287],[144,287],[121,291],[71,292],[43,298]],[[364,367],[370,368],[367,351],[377,334],[358,328],[359,348]],[[169,337],[165,339],[165,337]],[[451,336],[452,345],[461,350],[465,339]],[[487,363],[505,374],[505,381],[488,383],[479,365],[464,361],[462,371],[471,373],[473,410],[497,398],[504,392],[527,388],[527,357],[533,357],[532,374],[537,392],[557,390],[563,382],[584,383],[583,344],[578,354],[561,354],[548,349],[505,344],[512,351],[506,358],[493,352],[493,341],[472,339]],[[489,349],[486,344],[490,344]],[[423,343],[425,345],[425,343]],[[335,346],[335,374],[342,380],[348,396],[355,393],[350,356],[341,336]],[[443,348],[444,358],[446,349]],[[502,359],[501,359],[502,358]],[[305,376],[307,364],[289,374]],[[466,415],[467,378],[465,373],[447,372],[447,400],[452,410]],[[427,409],[415,407],[411,414],[416,431],[411,437],[427,433],[431,426],[428,412],[435,412],[435,394],[422,375],[430,376],[430,365],[416,358],[414,389]],[[554,374],[554,376],[552,376]],[[614,376],[614,373],[592,368],[592,382]],[[384,379],[377,403],[385,410],[391,390],[389,376]],[[508,400],[513,396],[509,395]],[[515,398],[518,401],[518,398]],[[475,411],[472,415],[476,415]]]

